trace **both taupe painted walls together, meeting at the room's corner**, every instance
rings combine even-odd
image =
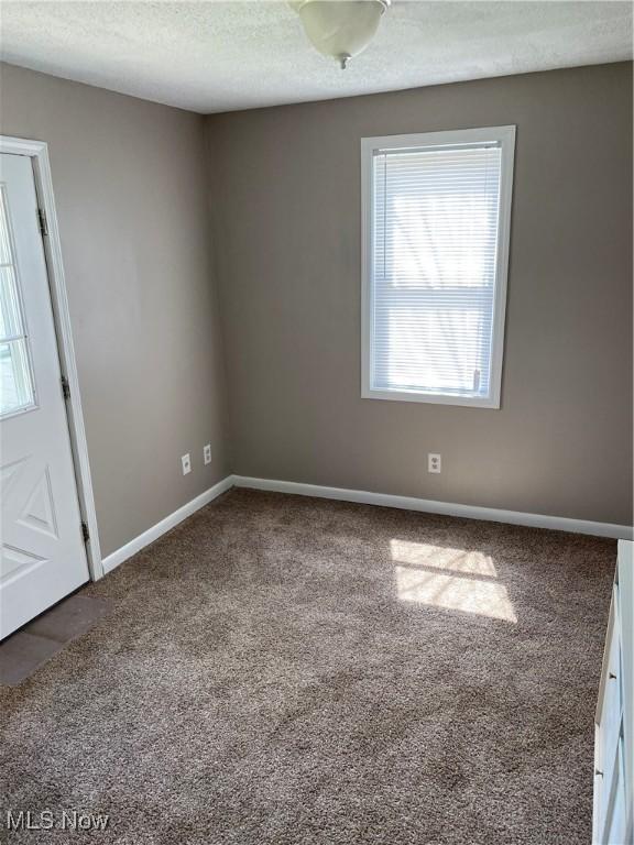
[[[106,555],[231,471],[630,522],[631,65],[206,121],[7,65],[0,94],[50,144]],[[361,399],[359,139],[506,123],[502,409]]]

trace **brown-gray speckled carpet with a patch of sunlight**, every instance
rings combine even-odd
[[[0,690],[2,811],[103,812],[77,841],[120,845],[586,845],[615,550],[232,491]]]

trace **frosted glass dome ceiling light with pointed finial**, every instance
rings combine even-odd
[[[372,41],[390,0],[295,0],[308,41],[343,69]]]

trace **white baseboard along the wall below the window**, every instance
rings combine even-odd
[[[487,522],[493,523],[524,525],[532,528],[550,528],[557,531],[590,534],[594,537],[613,537],[615,539],[624,540],[631,540],[634,537],[634,529],[627,525],[594,523],[589,519],[571,519],[567,516],[524,514],[520,511],[500,511],[494,507],[457,505],[450,502],[435,502],[429,498],[415,498],[414,496],[394,496],[385,493],[369,493],[368,491],[363,490],[323,487],[317,484],[300,484],[295,481],[251,479],[245,475],[234,475],[233,484],[237,487],[270,490],[275,493],[293,493],[299,496],[316,496],[318,498],[336,498],[342,502],[359,502],[364,505],[398,507],[405,511],[423,511],[427,514],[461,516],[467,519],[484,519]]]

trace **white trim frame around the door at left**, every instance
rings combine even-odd
[[[70,326],[70,311],[66,293],[62,242],[59,240],[57,215],[55,212],[53,179],[48,161],[48,145],[45,141],[32,141],[24,138],[0,135],[0,153],[25,155],[31,158],[37,204],[40,210],[44,212],[45,233],[43,233],[42,243],[44,245],[46,272],[48,275],[48,290],[53,306],[53,321],[55,325],[55,336],[57,338],[59,367],[69,388],[69,396],[66,399],[66,418],[68,420],[73,463],[75,467],[77,498],[79,501],[81,519],[88,526],[88,539],[85,542],[88,571],[91,580],[97,581],[103,577],[105,572],[101,563],[101,550],[99,547],[99,529],[97,527],[97,513],[95,511],[95,496],[92,494],[90,462],[88,459],[88,443],[84,426],[79,377],[77,375],[77,362]]]

